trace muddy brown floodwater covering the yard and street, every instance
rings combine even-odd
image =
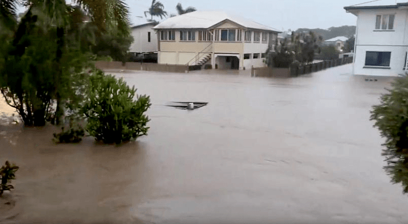
[[[350,73],[117,72],[151,97],[148,136],[55,145],[54,127],[0,126],[0,163],[20,166],[0,222],[407,223],[369,121],[392,79]]]

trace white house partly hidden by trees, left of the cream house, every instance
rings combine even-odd
[[[130,45],[129,54],[134,60],[157,58],[157,34],[153,27],[156,22],[143,23],[131,27],[133,43]]]

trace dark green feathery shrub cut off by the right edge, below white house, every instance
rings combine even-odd
[[[383,94],[379,105],[374,105],[370,120],[374,120],[381,136],[385,138],[387,174],[392,183],[401,183],[403,193],[408,193],[408,77],[398,77],[388,93]]]

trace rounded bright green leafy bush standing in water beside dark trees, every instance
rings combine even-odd
[[[83,113],[87,131],[97,141],[120,144],[147,134],[149,121],[144,115],[150,107],[150,98],[138,95],[122,78],[105,75],[96,70],[90,77]]]

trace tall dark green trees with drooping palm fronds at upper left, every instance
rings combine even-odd
[[[28,10],[17,22],[21,3]],[[90,54],[108,51],[124,58],[132,41],[122,0],[72,3],[76,6],[59,0],[0,3],[0,90],[27,126],[58,124],[66,106],[80,104],[77,90],[92,68]]]

